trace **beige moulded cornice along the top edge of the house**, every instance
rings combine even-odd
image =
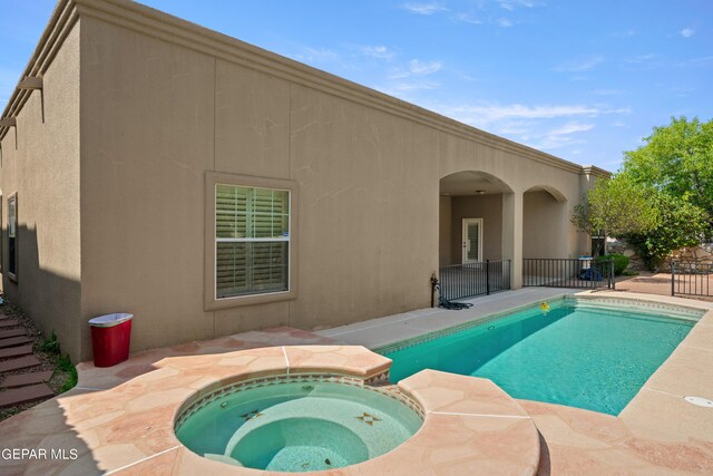
[[[489,147],[524,156],[575,174],[608,176],[595,167],[582,166],[495,134],[441,116],[413,104],[303,65],[235,38],[127,0],[59,0],[2,118],[16,118],[32,89],[22,88],[26,78],[41,78],[62,41],[80,17],[92,17],[124,28],[223,58],[305,87],[363,104],[368,107],[433,127]],[[10,124],[11,122],[8,122]],[[0,140],[11,125],[0,123]]]

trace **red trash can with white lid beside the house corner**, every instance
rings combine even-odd
[[[129,358],[131,318],[125,312],[89,320],[95,367],[111,367]]]

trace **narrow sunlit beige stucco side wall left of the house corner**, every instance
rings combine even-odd
[[[8,263],[8,197],[18,193],[18,282],[8,298],[62,351],[80,354],[79,23],[2,139],[2,262]],[[45,117],[42,120],[42,107]],[[17,132],[17,144],[16,144]]]

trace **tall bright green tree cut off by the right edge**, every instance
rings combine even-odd
[[[624,153],[623,171],[636,183],[703,208],[713,218],[713,119],[672,117],[645,145]]]

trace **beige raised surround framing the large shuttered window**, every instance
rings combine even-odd
[[[244,294],[227,298],[216,297],[216,184],[234,185],[251,188],[271,188],[289,192],[290,204],[290,237],[287,245],[287,290]],[[240,174],[206,172],[205,175],[205,272],[204,272],[204,307],[205,310],[227,309],[240,305],[260,304],[265,302],[286,301],[297,297],[297,184],[294,181],[281,178],[265,178]]]

